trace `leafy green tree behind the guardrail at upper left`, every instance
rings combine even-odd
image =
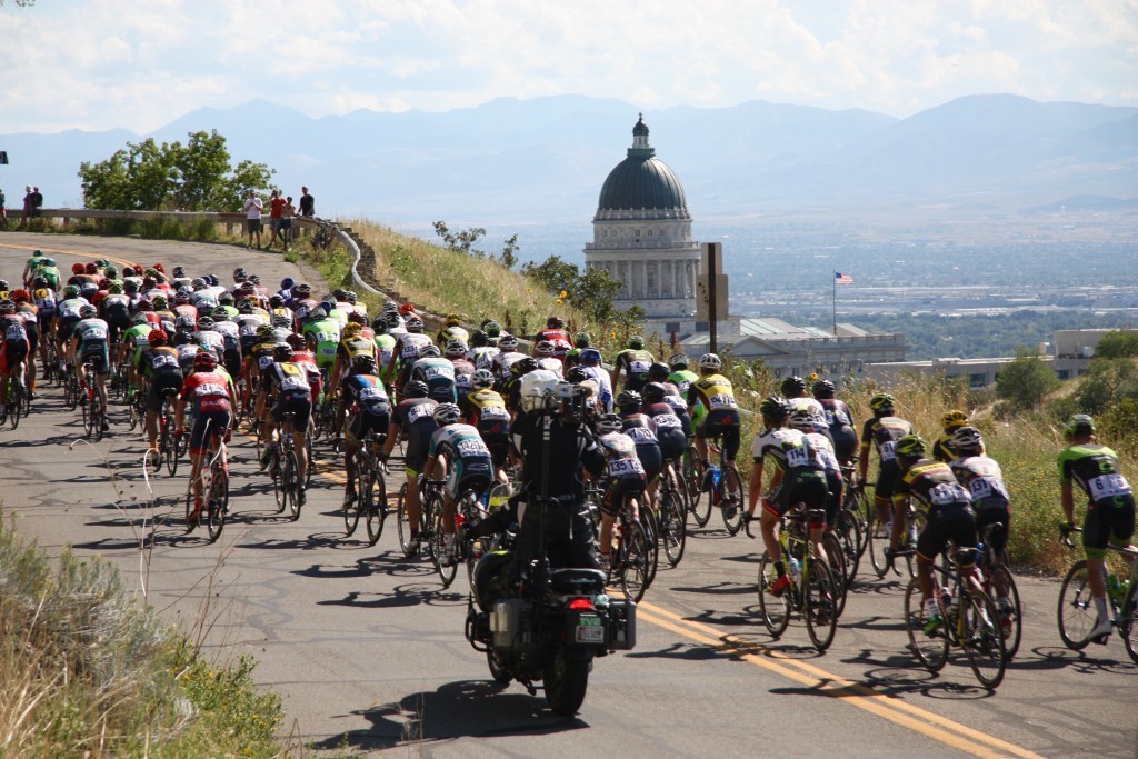
[[[216,131],[191,132],[184,146],[159,146],[152,138],[127,143],[79,170],[89,208],[123,211],[240,211],[246,192],[265,192],[273,173],[250,160],[231,167],[225,138]]]

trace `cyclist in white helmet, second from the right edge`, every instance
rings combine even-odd
[[[989,547],[993,563],[1004,563],[1004,551],[1007,547],[1008,529],[1012,521],[1011,497],[1004,485],[1004,473],[995,459],[984,454],[984,439],[980,430],[965,424],[956,428],[950,447],[958,454],[948,462],[956,476],[956,481],[967,488],[972,496],[972,510],[976,518],[976,534],[983,535],[989,525],[998,525],[990,530]],[[996,575],[996,605],[999,608],[1000,621],[1006,625],[1005,634],[1011,632],[1012,599],[1008,596],[1003,575]]]

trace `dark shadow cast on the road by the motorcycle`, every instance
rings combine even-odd
[[[459,680],[422,691],[398,702],[344,715],[363,717],[366,728],[331,735],[308,745],[318,750],[414,750],[462,737],[550,735],[587,728],[579,717],[554,715],[538,696],[493,680]]]

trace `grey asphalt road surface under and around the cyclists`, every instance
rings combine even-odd
[[[240,264],[266,282],[298,273],[232,246],[8,233],[0,275],[18,281],[34,247],[61,265],[82,254],[223,275]],[[1116,638],[1063,647],[1056,581],[1019,576],[1024,640],[992,693],[963,658],[939,675],[917,666],[897,577],[853,588],[825,654],[800,621],[772,640],[756,617],[759,543],[716,521],[694,533],[678,568],[661,568],[636,649],[597,660],[580,715],[558,718],[539,695],[495,685],[467,644],[461,574],[443,589],[428,563],[403,559],[393,519],[373,548],[344,536],[343,477],[327,449],[290,522],[275,513],[250,440],[234,438],[233,518],[211,545],[204,529],[184,529],[185,469],[145,472],[145,445],[124,420],[113,407],[102,443],[75,443],[77,413],[43,390],[18,430],[0,431],[6,515],[52,553],[71,545],[116,562],[212,653],[255,655],[257,680],[284,698],[295,743],[455,757],[1129,757],[1138,746],[1138,666]]]

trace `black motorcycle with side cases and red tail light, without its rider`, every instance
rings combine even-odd
[[[494,551],[475,567],[467,640],[486,653],[496,682],[518,680],[530,695],[541,682],[550,708],[572,716],[585,701],[593,659],[636,645],[636,604],[610,599],[595,569],[551,569],[541,559],[514,583],[511,563],[509,551]]]

